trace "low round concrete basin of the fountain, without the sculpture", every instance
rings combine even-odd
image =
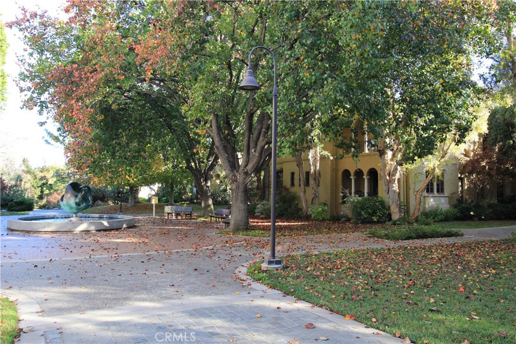
[[[89,219],[91,216],[91,219]],[[53,215],[21,216],[8,219],[7,228],[17,232],[93,232],[110,231],[134,226],[134,217],[112,214],[88,214],[88,221],[82,222],[38,222],[37,220],[54,219]],[[95,218],[98,218],[96,220]]]

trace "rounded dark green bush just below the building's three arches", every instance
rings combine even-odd
[[[389,205],[379,196],[349,196],[346,201],[353,222],[386,222],[391,216]]]

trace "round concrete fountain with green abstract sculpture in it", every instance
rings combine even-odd
[[[134,217],[124,215],[79,214],[91,207],[93,199],[87,185],[69,183],[59,202],[69,214],[22,216],[8,219],[7,228],[19,232],[91,232],[118,230],[134,226]],[[78,215],[79,214],[79,215]]]

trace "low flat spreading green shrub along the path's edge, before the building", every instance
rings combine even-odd
[[[459,237],[464,234],[459,230],[450,230],[438,226],[396,226],[389,228],[372,228],[366,232],[380,239],[388,240],[411,240],[411,239],[427,239],[427,238],[446,238]]]

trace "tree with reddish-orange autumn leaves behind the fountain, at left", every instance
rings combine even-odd
[[[156,7],[70,1],[63,10],[67,20],[25,10],[10,24],[22,31],[30,50],[21,60],[25,105],[60,124],[60,137],[79,172],[91,169],[115,184],[148,181],[149,140],[175,137],[170,142],[183,149],[204,212],[213,211],[209,181],[218,160],[213,143],[200,132],[192,135],[193,125],[180,110],[187,102],[178,95],[172,71],[153,75],[158,66],[152,58],[147,61],[144,41],[153,40]],[[112,133],[114,124],[119,135]]]

